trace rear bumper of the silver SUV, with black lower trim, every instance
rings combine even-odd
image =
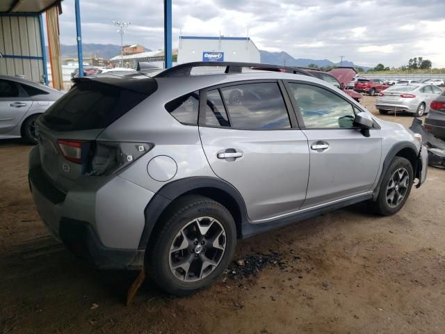
[[[30,154],[29,186],[44,225],[58,241],[101,269],[140,269],[145,249],[138,245],[144,210],[154,193],[119,176],[79,180],[63,193]]]

